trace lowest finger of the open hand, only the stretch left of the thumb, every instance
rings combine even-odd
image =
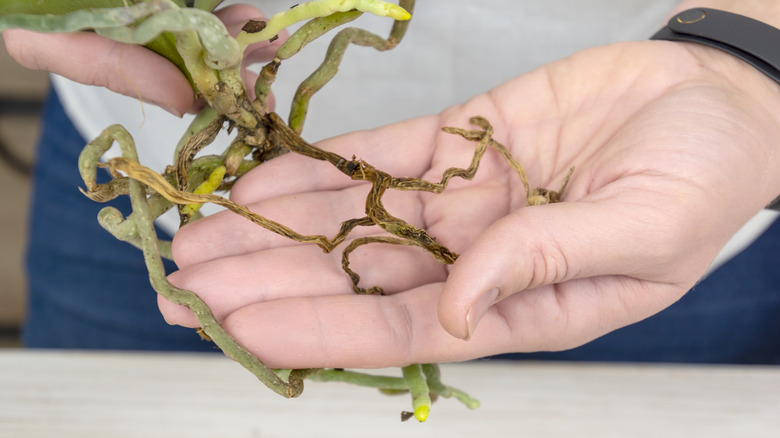
[[[258,303],[230,314],[223,326],[273,368],[380,368],[493,352],[488,337],[466,343],[441,328],[435,310],[440,287]]]

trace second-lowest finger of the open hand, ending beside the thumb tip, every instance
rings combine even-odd
[[[409,246],[362,245],[351,253],[349,266],[360,275],[360,286],[381,286],[388,295],[446,277],[443,265],[422,249]],[[352,280],[342,268],[341,254],[326,254],[311,245],[193,265],[174,272],[169,280],[179,288],[196,292],[218,319],[251,303],[354,294]],[[186,308],[164,299],[159,302],[169,323],[198,326]]]

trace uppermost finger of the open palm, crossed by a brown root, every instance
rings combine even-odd
[[[349,160],[353,156],[400,177],[420,177],[430,166],[439,141],[437,117],[421,117],[385,127],[334,137],[316,146]],[[445,136],[450,138],[452,136]],[[231,198],[238,203],[286,194],[338,190],[360,184],[325,161],[287,154],[263,163],[236,182]]]

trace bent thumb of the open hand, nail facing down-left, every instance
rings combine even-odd
[[[624,275],[693,284],[709,262],[679,256],[690,252],[681,235],[686,227],[673,220],[679,216],[668,208],[613,201],[521,208],[487,228],[452,266],[439,321],[451,335],[469,339],[498,301],[578,278]]]

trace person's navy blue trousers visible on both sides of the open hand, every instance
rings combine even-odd
[[[52,94],[44,115],[28,268],[31,347],[211,350],[160,317],[141,253],[99,227],[78,192],[84,140]],[[122,211],[129,203],[113,203]],[[780,222],[660,314],[557,353],[512,359],[780,364]],[[168,265],[173,269],[172,265]]]

